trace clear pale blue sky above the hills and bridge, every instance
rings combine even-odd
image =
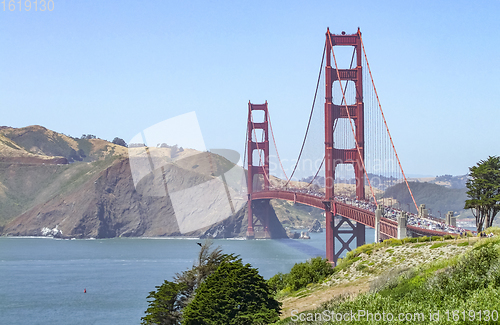
[[[327,26],[359,26],[406,173],[461,175],[500,154],[500,1],[54,4],[0,4],[0,125],[129,141],[195,111],[207,148],[242,152],[247,103],[267,100],[292,159]]]

